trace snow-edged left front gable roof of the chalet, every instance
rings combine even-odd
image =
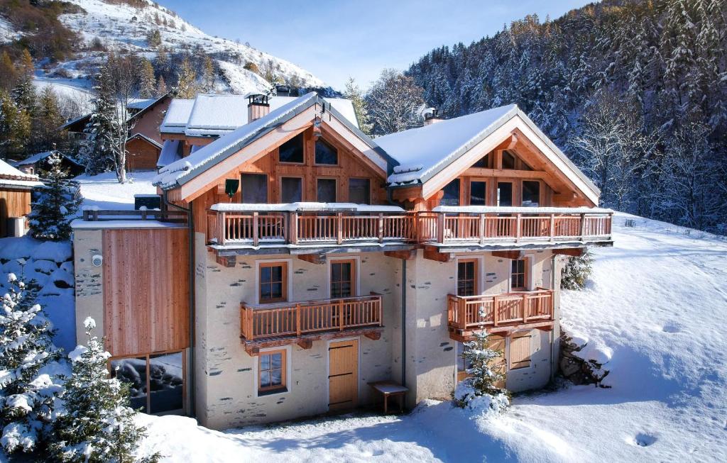
[[[212,168],[222,160],[234,155],[248,144],[260,139],[265,134],[273,131],[275,128],[282,126],[286,121],[294,118],[294,116],[307,110],[316,104],[324,104],[327,99],[318,97],[316,92],[310,92],[302,97],[290,99],[290,101],[276,110],[270,111],[268,115],[260,119],[253,120],[244,126],[236,128],[225,136],[214,140],[214,142],[200,147],[192,152],[188,157],[184,157],[175,161],[166,167],[161,168],[159,174],[153,180],[153,184],[162,189],[172,189],[181,186],[188,181],[194,179],[199,174]],[[332,117],[344,124],[345,127],[353,131],[362,142],[364,142],[373,152],[379,155],[379,159],[371,159],[379,165],[383,171],[387,172],[389,165],[395,163],[377,144],[375,144],[368,136],[364,135],[358,126],[345,118],[339,111],[333,107],[329,109]]]

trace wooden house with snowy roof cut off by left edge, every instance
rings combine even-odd
[[[42,183],[0,160],[0,238],[25,234],[24,218],[31,213],[31,191]],[[18,219],[22,224],[17,224]]]

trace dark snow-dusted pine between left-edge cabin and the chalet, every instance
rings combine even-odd
[[[71,221],[79,210],[81,198],[66,181],[68,172],[61,167],[60,155],[50,155],[48,165],[44,185],[33,192],[28,225],[33,238],[65,241],[71,238]]]

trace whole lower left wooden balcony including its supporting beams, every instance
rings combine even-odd
[[[383,326],[380,295],[240,308],[241,338],[252,354],[261,347],[310,348],[313,340],[359,334],[378,339]]]

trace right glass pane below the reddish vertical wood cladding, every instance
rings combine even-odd
[[[182,410],[183,396],[182,353],[165,353],[149,358],[149,389],[151,412]]]

